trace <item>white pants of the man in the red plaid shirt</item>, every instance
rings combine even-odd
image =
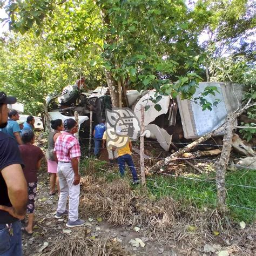
[[[78,219],[80,184],[73,184],[75,173],[71,163],[58,162],[57,171],[60,188],[57,212],[65,212],[69,196],[69,220],[76,221]]]

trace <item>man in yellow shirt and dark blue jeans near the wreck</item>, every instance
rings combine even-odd
[[[137,176],[135,166],[133,164],[131,151],[132,151],[132,143],[131,143],[131,140],[128,139],[125,146],[117,150],[117,154],[118,154],[117,163],[119,166],[119,172],[121,176],[124,176],[125,163],[126,163],[131,170],[133,183],[138,183],[138,176]]]

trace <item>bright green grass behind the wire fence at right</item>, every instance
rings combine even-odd
[[[191,174],[190,177],[193,177]],[[195,175],[196,176],[196,175]],[[196,176],[198,179],[208,179],[205,175]],[[211,176],[211,178],[214,178]],[[234,173],[227,173],[226,183],[254,186],[256,178],[255,170],[239,170]],[[214,179],[213,179],[214,180]],[[147,187],[157,199],[171,196],[176,200],[181,200],[184,205],[193,205],[201,210],[205,207],[214,208],[216,206],[216,185],[206,181],[188,180],[184,178],[172,178],[166,176],[154,176],[147,180]],[[255,191],[253,188],[245,188],[233,185],[226,185],[226,204],[237,205],[256,209]],[[239,197],[238,197],[239,194]],[[253,222],[255,220],[254,211],[245,210],[234,206],[230,208],[230,215],[236,221]]]

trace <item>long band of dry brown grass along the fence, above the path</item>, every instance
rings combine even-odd
[[[81,188],[80,207],[86,217],[102,217],[112,225],[139,226],[144,235],[163,244],[184,244],[200,251],[205,243],[217,243],[239,255],[250,255],[255,249],[246,239],[250,235],[255,238],[255,231],[250,234],[252,228],[240,230],[221,219],[216,211],[199,212],[172,198],[157,201],[147,192],[133,191],[124,179],[107,183],[104,178],[87,176],[82,179]],[[215,235],[215,231],[220,234]]]

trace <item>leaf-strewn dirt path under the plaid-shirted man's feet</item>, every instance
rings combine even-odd
[[[66,239],[85,229],[90,239],[110,239],[118,242],[127,255],[185,255],[182,250],[173,246],[164,246],[157,241],[143,237],[139,232],[131,231],[126,226],[111,226],[101,219],[88,218],[82,227],[68,228],[65,226],[67,218],[55,219],[58,195],[49,196],[49,176],[45,168],[39,171],[35,210],[35,226],[32,236],[23,234],[24,255],[43,255],[49,251],[56,239]],[[80,212],[81,213],[81,212]],[[82,213],[83,214],[83,213]],[[144,247],[134,247],[129,244],[131,239],[140,238]]]

